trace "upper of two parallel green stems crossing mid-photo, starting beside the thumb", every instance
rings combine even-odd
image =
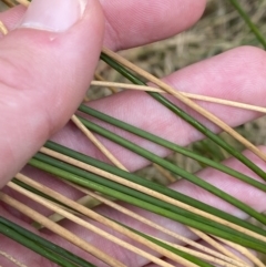
[[[207,166],[216,168],[216,170],[218,170],[218,171],[221,171],[223,173],[229,174],[233,177],[236,177],[236,178],[238,178],[238,179],[241,179],[241,181],[243,181],[243,182],[245,182],[245,183],[247,183],[249,185],[253,185],[254,187],[256,187],[256,188],[258,188],[260,191],[266,192],[266,185],[265,184],[263,184],[263,183],[260,183],[260,182],[258,182],[256,179],[253,179],[249,176],[247,176],[245,174],[242,174],[242,173],[239,173],[239,172],[237,172],[237,171],[235,171],[235,170],[233,170],[231,167],[227,167],[227,166],[225,166],[225,165],[223,165],[221,163],[217,163],[215,161],[212,161],[209,158],[201,156],[201,155],[198,155],[198,154],[196,154],[196,153],[194,153],[194,152],[192,152],[190,150],[186,150],[186,148],[184,148],[182,146],[178,146],[175,143],[172,143],[172,142],[167,141],[167,140],[164,140],[164,138],[158,137],[158,136],[156,136],[154,134],[145,132],[145,131],[143,131],[141,129],[137,129],[137,127],[135,127],[133,125],[124,123],[124,122],[122,122],[122,121],[120,121],[117,119],[109,116],[109,115],[106,115],[104,113],[101,113],[101,112],[99,112],[96,110],[93,110],[93,109],[91,109],[89,106],[85,106],[83,104],[80,105],[79,111],[84,112],[85,114],[91,115],[93,117],[96,117],[96,119],[99,119],[101,121],[104,121],[104,122],[106,122],[106,123],[109,123],[111,125],[114,125],[116,127],[123,129],[123,130],[125,130],[125,131],[127,131],[130,133],[133,133],[133,134],[135,134],[137,136],[141,136],[141,137],[143,137],[145,140],[149,140],[149,141],[153,142],[155,144],[162,145],[162,146],[164,146],[164,147],[166,147],[166,148],[168,148],[171,151],[174,151],[174,152],[181,153],[181,154],[183,154],[185,156],[188,156],[188,157],[191,157],[191,158],[193,158],[193,160],[195,160],[197,162],[206,164]]]

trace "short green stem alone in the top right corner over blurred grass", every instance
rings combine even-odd
[[[229,0],[232,6],[237,10],[237,12],[241,14],[242,19],[246,22],[246,24],[249,27],[254,35],[258,39],[258,41],[263,44],[264,49],[266,49],[266,40],[259,29],[252,22],[247,12],[242,8],[239,2],[237,0]]]

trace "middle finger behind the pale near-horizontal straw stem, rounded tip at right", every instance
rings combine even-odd
[[[164,80],[166,83],[185,92],[224,97],[263,106],[265,105],[265,60],[266,54],[259,49],[248,47],[238,48],[190,65]],[[204,120],[202,116],[195,114],[195,112],[186,109],[175,99],[171,97],[171,101],[184,109],[188,114],[198,119],[208,129],[214,132],[219,131],[207,120]],[[236,107],[204,102],[198,103],[231,126],[237,126],[259,116],[256,112],[244,111]],[[126,91],[90,102],[89,105],[180,145],[187,145],[203,137],[201,133],[195,131],[186,122],[178,119],[174,113],[143,92]],[[104,125],[104,127],[111,131],[115,131],[117,134],[122,134],[123,137],[131,140],[160,156],[166,156],[168,154],[167,150],[154,145],[151,142],[146,142],[143,138],[135,137],[106,123],[102,123],[101,125]],[[105,138],[99,138],[129,170],[135,171],[147,164],[147,161],[140,156],[135,156],[134,153]],[[71,124],[65,127],[65,131],[54,136],[54,141],[84,154],[106,161],[102,153]],[[127,158],[134,158],[134,161],[127,161]]]

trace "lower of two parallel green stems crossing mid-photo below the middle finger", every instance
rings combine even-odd
[[[221,197],[222,199],[231,203],[232,205],[234,205],[235,207],[238,207],[239,209],[242,209],[243,212],[249,214],[252,217],[256,218],[257,220],[259,220],[263,224],[266,224],[266,217],[262,214],[259,214],[258,212],[256,212],[254,208],[247,206],[246,204],[244,204],[243,202],[236,199],[235,197],[231,196],[229,194],[221,191],[219,188],[213,186],[212,184],[208,184],[207,182],[205,182],[204,179],[201,179],[200,177],[197,177],[194,174],[191,174],[188,172],[186,172],[185,170],[182,170],[181,167],[172,164],[171,162],[161,158],[160,156],[153,154],[150,151],[146,151],[145,148],[142,148],[141,146],[116,135],[113,134],[112,132],[92,123],[89,122],[82,117],[79,117],[79,120],[85,125],[85,127],[88,127],[90,131],[93,131],[104,137],[106,137],[108,140],[113,141],[116,144],[120,144],[123,147],[126,147],[127,150],[135,152],[136,154],[143,156],[144,158],[158,164],[160,166],[171,171],[174,174],[180,175],[181,177],[190,181],[191,183],[206,189],[207,192]]]

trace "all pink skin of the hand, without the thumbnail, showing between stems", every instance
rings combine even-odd
[[[71,123],[65,124],[89,86],[96,65],[96,55],[100,53],[99,48],[102,45],[102,42],[104,45],[117,51],[162,40],[188,29],[201,18],[205,8],[204,0],[154,0],[152,7],[141,0],[102,0],[102,10],[95,1],[91,1],[90,4],[91,7],[86,10],[84,18],[71,28],[70,31],[57,35],[57,41],[53,43],[48,42],[51,33],[29,29],[14,29],[25,11],[24,8],[17,7],[0,14],[0,20],[3,21],[11,31],[9,35],[2,37],[0,40],[1,186],[4,186],[4,184],[21,170],[25,162],[49,137],[71,148],[106,161]],[[165,13],[167,13],[166,17]],[[120,20],[116,18],[120,18]],[[104,34],[101,34],[104,27]],[[143,34],[143,32],[145,34]],[[88,42],[84,42],[86,39]],[[78,47],[79,50],[76,49]],[[264,106],[264,86],[266,84],[265,60],[266,54],[259,49],[252,47],[237,48],[172,73],[164,78],[164,80],[181,91],[225,99],[229,97],[233,101],[243,101]],[[29,65],[31,68],[24,68]],[[62,74],[63,79],[61,79]],[[13,76],[16,76],[16,79],[13,79]],[[174,100],[174,102],[176,101]],[[13,104],[11,105],[10,103]],[[140,107],[137,110],[135,109],[135,103],[139,103]],[[255,112],[224,107],[209,103],[201,104],[232,126],[239,125],[259,116],[259,114]],[[202,138],[200,133],[141,92],[123,92],[94,101],[90,103],[90,106],[181,145],[187,145],[191,142]],[[194,114],[191,111],[188,112]],[[146,120],[147,116],[143,116],[143,114],[150,115],[149,121]],[[213,131],[218,131],[217,127],[206,120],[201,117],[200,120]],[[171,125],[171,127],[168,125]],[[116,132],[119,132],[119,130],[116,130]],[[168,151],[140,138],[132,137],[125,133],[123,133],[123,135],[143,147],[156,152],[160,156],[168,154]],[[111,142],[101,137],[100,140],[130,171],[135,171],[147,164],[145,160],[133,155]],[[265,151],[265,147],[262,147],[262,150]],[[259,161],[255,155],[249,152],[246,152],[246,155],[262,168],[266,168],[265,163]],[[257,178],[252,172],[247,171],[241,163],[233,158],[228,160],[226,164]],[[23,172],[37,181],[52,188],[57,188],[58,192],[72,199],[81,197],[79,192],[61,184],[47,174],[38,173],[30,167],[24,168]],[[265,202],[262,201],[265,198],[265,193],[209,168],[202,171],[197,175],[253,206],[255,209],[259,212],[265,210]],[[172,185],[172,188],[232,213],[243,219],[247,217],[243,212],[188,182],[177,182]],[[10,193],[27,205],[37,208],[47,216],[51,214],[51,212],[7,187],[4,187],[3,191]],[[129,205],[124,206],[149,217],[160,225],[166,226],[190,238],[197,239],[180,224]],[[160,238],[172,240],[164,234],[140,225],[135,220],[104,205],[95,209],[101,214],[116,218],[132,227],[145,230]],[[32,229],[29,226],[29,218],[7,205],[0,205],[0,213],[2,216],[12,219],[21,226]],[[72,223],[62,222],[62,225],[89,240],[91,244],[101,247],[101,249],[113,255],[127,266],[155,266],[146,259],[121,249],[112,243],[84,230],[82,227],[76,227],[76,225]],[[103,263],[80,251],[48,230],[42,230],[39,234],[99,266],[105,266]],[[3,236],[0,238],[1,244],[4,244],[4,250],[10,255],[16,255],[16,257],[27,266],[54,266],[12,240]],[[0,265],[13,266],[2,257],[0,257]]]

